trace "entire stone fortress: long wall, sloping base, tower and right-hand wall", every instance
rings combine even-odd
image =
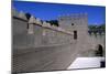
[[[12,18],[13,72],[66,70],[77,56],[92,54],[98,44],[105,49],[105,34],[88,34],[87,15],[64,15],[58,28],[33,15],[29,21],[22,20],[23,13],[19,18]]]

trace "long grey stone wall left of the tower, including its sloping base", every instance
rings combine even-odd
[[[28,22],[20,19],[23,20],[12,18],[13,72],[66,70],[76,59],[72,32],[43,24],[33,17]]]

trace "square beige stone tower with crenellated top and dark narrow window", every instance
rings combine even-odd
[[[87,13],[59,17],[58,24],[61,28],[74,33],[73,40],[80,53],[89,49]]]

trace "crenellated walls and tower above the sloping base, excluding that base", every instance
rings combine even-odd
[[[26,13],[15,9],[12,10],[12,17],[14,46],[18,47],[75,43],[79,49],[88,50],[88,43],[92,45],[105,39],[98,38],[105,36],[103,31],[88,31],[87,13],[58,17],[59,27],[34,15],[28,18]]]

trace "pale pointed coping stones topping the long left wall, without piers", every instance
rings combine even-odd
[[[20,18],[22,20],[28,20],[26,19],[26,15],[25,15],[25,13],[23,13],[23,11],[18,12],[15,9],[12,9],[12,12],[13,12],[13,17]],[[64,30],[64,29],[62,29],[59,27],[51,25],[51,23],[47,23],[46,21],[43,21],[43,23],[42,23],[38,18],[35,19],[33,15],[31,15],[31,18],[29,19],[29,22],[28,23],[29,24],[41,25],[43,28],[47,28],[47,29],[55,30],[55,31],[61,31],[63,33],[73,35],[72,32],[66,31],[66,30]]]

